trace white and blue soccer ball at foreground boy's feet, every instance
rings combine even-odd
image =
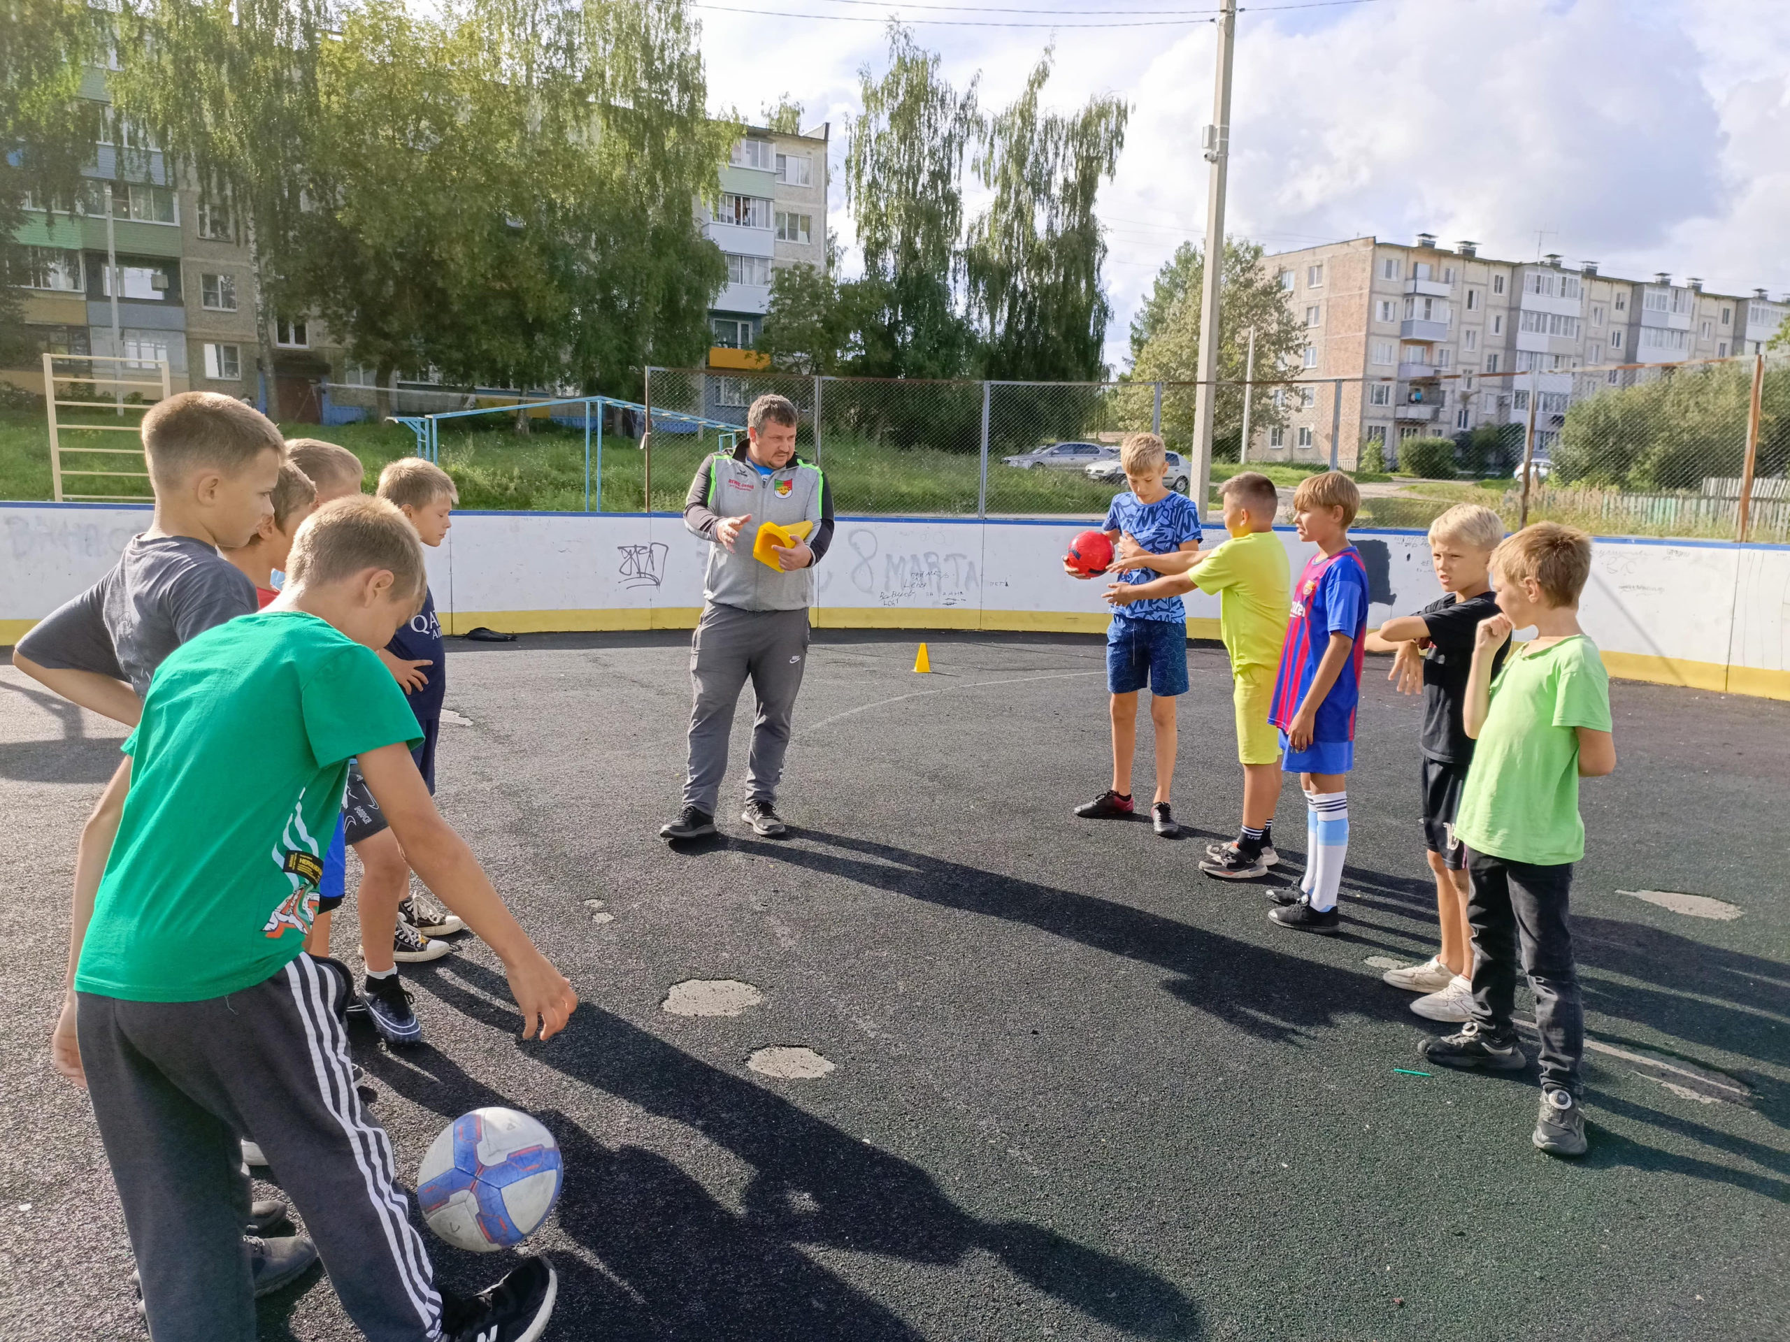
[[[430,1145],[417,1204],[448,1244],[496,1253],[541,1229],[562,1179],[558,1143],[546,1127],[516,1109],[473,1109]]]

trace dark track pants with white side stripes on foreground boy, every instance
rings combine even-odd
[[[81,993],[81,1061],[154,1342],[254,1342],[236,1133],[263,1151],[369,1342],[440,1337],[440,1297],[354,1093],[342,981],[299,956],[206,1002]]]

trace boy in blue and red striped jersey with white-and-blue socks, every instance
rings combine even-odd
[[[1292,589],[1287,642],[1269,721],[1280,728],[1287,773],[1305,789],[1305,877],[1276,891],[1267,916],[1300,932],[1337,930],[1337,889],[1348,857],[1348,773],[1355,768],[1355,705],[1368,632],[1368,569],[1348,524],[1360,490],[1341,471],[1305,480],[1292,496],[1300,540],[1317,546]]]

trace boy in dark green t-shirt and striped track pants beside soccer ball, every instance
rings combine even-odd
[[[156,1337],[256,1335],[236,1134],[267,1154],[367,1337],[519,1342],[551,1313],[544,1258],[482,1295],[435,1290],[390,1142],[354,1091],[347,986],[303,954],[358,757],[421,875],[503,961],[523,1038],[555,1034],[578,1004],[410,757],[417,719],[372,650],[422,583],[397,508],[320,508],[267,610],[161,662],[82,836],[50,1052],[91,1093]]]

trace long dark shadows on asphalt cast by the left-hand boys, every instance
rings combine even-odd
[[[419,966],[422,968],[422,966]],[[412,986],[512,1036],[521,1018],[503,975],[458,956]],[[958,1208],[916,1165],[809,1115],[775,1091],[721,1072],[585,1004],[530,1057],[652,1115],[700,1129],[752,1167],[745,1210],[716,1201],[664,1156],[605,1145],[564,1115],[537,1115],[560,1142],[567,1193],[560,1229],[607,1274],[555,1263],[555,1322],[567,1337],[918,1340],[913,1326],[852,1288],[798,1245],[954,1265],[972,1251],[999,1258],[1040,1292],[1146,1338],[1198,1338],[1199,1306],[1169,1281],[1024,1222],[984,1222]],[[379,1083],[453,1118],[505,1104],[433,1049],[362,1052]],[[439,1245],[431,1245],[435,1253]],[[451,1287],[476,1288],[492,1260],[440,1249]],[[499,1269],[501,1270],[501,1269]],[[462,1281],[464,1279],[464,1281]],[[562,1322],[564,1321],[564,1322]]]

